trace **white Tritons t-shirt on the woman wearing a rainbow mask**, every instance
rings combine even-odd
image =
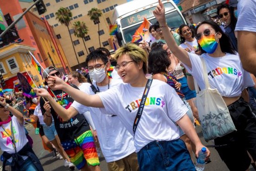
[[[203,80],[203,64],[199,55],[189,54],[192,68],[186,69],[196,79],[201,90],[205,89]],[[211,88],[217,88],[224,97],[238,97],[242,91],[253,86],[254,82],[249,73],[242,67],[238,55],[227,53],[223,57],[211,57],[208,54],[201,55],[205,61]]]

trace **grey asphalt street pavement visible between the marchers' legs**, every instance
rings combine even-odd
[[[33,138],[33,150],[38,156],[38,158],[40,159],[40,162],[43,165],[44,170],[45,171],[69,171],[68,167],[64,167],[64,159],[62,160],[53,159],[52,153],[49,153],[48,151],[44,150],[42,146],[42,141],[39,135],[35,134],[35,129],[33,128],[33,126],[31,124],[26,124],[25,127],[27,128],[29,135]],[[200,126],[196,126],[196,130],[203,145],[208,147],[211,152],[211,156],[210,156],[211,162],[206,164],[204,171],[229,171],[227,166],[220,159],[217,151],[214,149],[213,141],[209,141],[208,143],[204,141],[203,133]],[[1,162],[0,162],[0,165],[2,165]],[[102,171],[108,171],[107,163],[105,162],[104,158],[100,159],[100,167]],[[77,171],[77,169],[75,169],[75,171]],[[250,171],[255,171],[255,170],[250,166]]]

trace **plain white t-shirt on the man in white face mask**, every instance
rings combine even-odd
[[[112,79],[109,88],[115,88],[120,84],[124,84],[122,79]],[[94,86],[97,87],[95,82]],[[98,89],[100,92],[107,91],[108,85],[98,86]],[[89,89],[85,87],[80,90],[88,94],[94,94],[91,87]],[[87,107],[76,101],[71,106],[78,110],[79,113],[91,111],[92,121],[97,130],[99,144],[106,162],[109,163],[123,159],[135,152],[133,136],[127,131],[122,122],[120,122],[118,116],[105,115],[106,111],[104,109],[99,110],[98,108]]]

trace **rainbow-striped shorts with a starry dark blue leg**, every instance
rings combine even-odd
[[[74,140],[61,142],[71,162],[80,170],[85,165],[99,165],[98,154],[93,141],[92,132],[88,130]]]

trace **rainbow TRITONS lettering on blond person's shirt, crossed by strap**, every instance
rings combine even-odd
[[[132,110],[137,109],[139,107],[140,101],[141,101],[141,98],[131,102],[130,104],[128,104],[125,107],[125,109],[129,110],[129,112],[131,112]],[[145,106],[148,106],[148,105],[158,105],[158,106],[161,106],[163,108],[164,105],[165,105],[165,102],[161,98],[150,97],[150,98],[147,98],[146,102],[145,102]]]

